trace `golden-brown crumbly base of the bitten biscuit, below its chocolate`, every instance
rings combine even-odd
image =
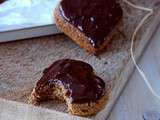
[[[70,100],[67,98],[67,96],[65,96],[65,93],[66,91],[63,87],[54,87],[53,95],[49,99],[66,102],[68,106],[68,113],[79,116],[95,115],[97,112],[99,112],[104,108],[108,99],[108,96],[104,95],[96,102],[71,103]],[[29,98],[29,103],[34,105],[39,105],[43,101],[47,101],[47,99],[43,99],[43,97],[41,95],[38,95],[35,89],[33,89],[31,96]]]

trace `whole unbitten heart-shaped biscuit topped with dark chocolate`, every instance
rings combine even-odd
[[[98,53],[106,47],[120,26],[122,9],[116,0],[62,0],[55,23],[80,47]]]

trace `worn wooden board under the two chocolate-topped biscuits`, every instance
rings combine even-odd
[[[136,0],[135,3],[139,4]],[[153,7],[153,1],[141,3]],[[79,48],[65,35],[34,38],[19,42],[0,44],[0,119],[3,120],[105,120],[116,99],[124,88],[134,65],[130,58],[130,38],[146,14],[122,3],[123,25],[100,56],[93,56]],[[160,11],[145,23],[139,31],[134,46],[138,59],[143,49],[159,26]],[[97,74],[109,85],[111,96],[105,109],[97,115],[84,118],[67,114],[63,103],[49,102],[40,107],[27,104],[35,83],[40,79],[44,68],[62,58],[83,60],[91,64]]]

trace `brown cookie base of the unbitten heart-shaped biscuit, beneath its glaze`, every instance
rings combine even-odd
[[[92,54],[98,54],[104,50],[104,48],[108,45],[110,40],[118,34],[117,29],[122,24],[122,20],[119,21],[119,23],[116,25],[115,28],[107,35],[107,37],[104,40],[104,43],[99,48],[94,48],[92,44],[89,42],[89,38],[82,33],[80,30],[75,28],[72,24],[70,24],[68,21],[66,21],[63,16],[60,13],[59,5],[55,9],[54,12],[55,17],[55,23],[58,26],[58,28],[64,32],[67,36],[69,36],[75,43],[77,43],[80,47],[84,48],[87,52]]]

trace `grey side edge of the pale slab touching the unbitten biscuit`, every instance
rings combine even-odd
[[[55,24],[0,32],[0,43],[61,33]]]

